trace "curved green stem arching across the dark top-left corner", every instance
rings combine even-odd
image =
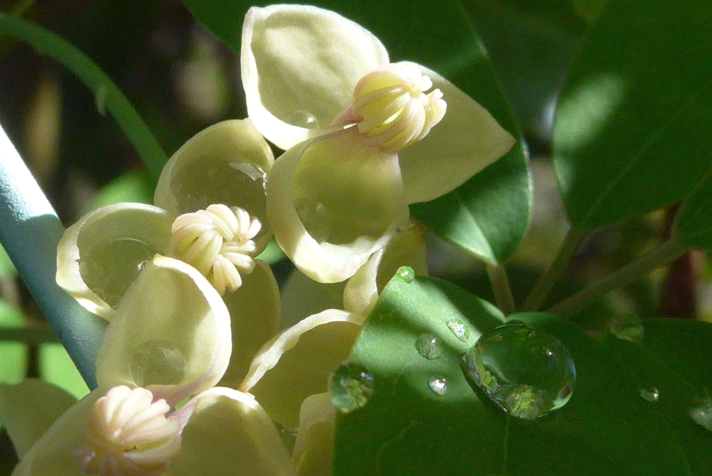
[[[0,33],[30,43],[78,76],[94,93],[99,113],[103,115],[108,111],[114,116],[157,179],[168,160],[167,155],[126,96],[90,58],[54,33],[16,16],[0,13]]]

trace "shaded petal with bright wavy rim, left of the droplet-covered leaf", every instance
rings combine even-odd
[[[327,390],[330,373],[345,361],[359,331],[346,311],[309,316],[261,348],[239,389],[255,395],[276,423],[296,428],[303,400]]]

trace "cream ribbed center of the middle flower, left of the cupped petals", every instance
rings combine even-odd
[[[175,219],[169,244],[174,257],[200,271],[223,295],[242,286],[241,273],[255,269],[253,238],[261,227],[240,207],[210,205]]]

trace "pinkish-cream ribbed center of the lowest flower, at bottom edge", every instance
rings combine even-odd
[[[114,387],[96,401],[86,438],[72,450],[81,472],[101,476],[159,476],[181,444],[181,427],[166,418],[166,400],[145,388]]]

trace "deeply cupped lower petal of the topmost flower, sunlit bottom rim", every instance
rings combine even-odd
[[[398,157],[355,128],[285,152],[267,182],[267,214],[285,254],[315,281],[343,281],[406,223]]]

